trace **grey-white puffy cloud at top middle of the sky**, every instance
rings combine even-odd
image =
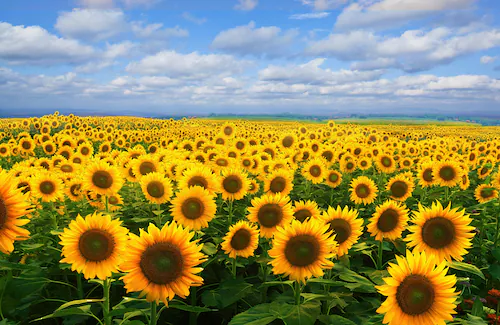
[[[296,30],[282,32],[276,26],[255,27],[255,22],[220,32],[212,42],[212,48],[240,55],[276,56],[289,53],[297,36]]]

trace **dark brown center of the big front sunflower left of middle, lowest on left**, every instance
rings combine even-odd
[[[181,276],[184,260],[179,247],[170,243],[157,243],[142,253],[139,265],[149,281],[162,285]]]

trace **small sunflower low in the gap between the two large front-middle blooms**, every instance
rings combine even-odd
[[[255,225],[241,220],[229,227],[229,232],[223,239],[221,247],[229,257],[247,258],[253,256],[259,245],[259,230]]]

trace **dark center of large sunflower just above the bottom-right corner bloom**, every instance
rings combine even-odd
[[[450,245],[455,239],[453,223],[443,217],[427,220],[422,227],[422,240],[432,248],[439,249]]]

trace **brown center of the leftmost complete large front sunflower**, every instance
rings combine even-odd
[[[89,261],[106,260],[113,254],[115,241],[107,231],[90,229],[85,231],[78,241],[80,254]]]

